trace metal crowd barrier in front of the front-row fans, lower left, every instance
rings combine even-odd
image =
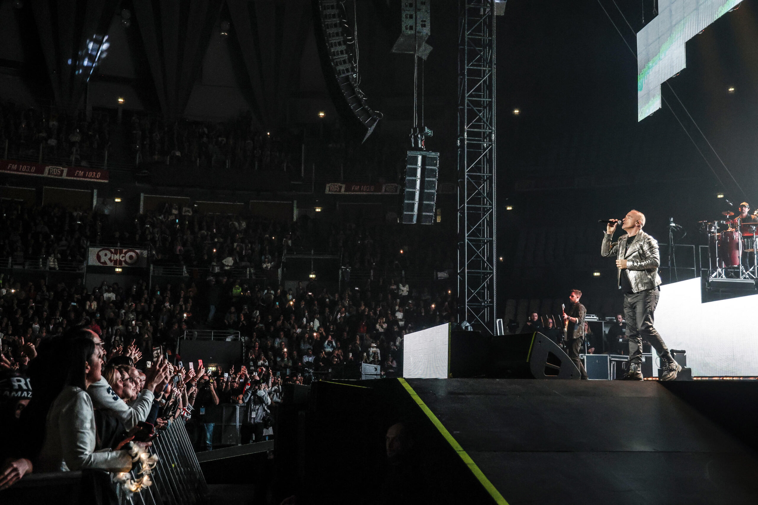
[[[150,478],[152,485],[139,493],[117,489],[120,505],[174,505],[206,503],[208,485],[189,441],[183,419],[171,422],[152,442],[151,454],[158,454],[158,464]]]

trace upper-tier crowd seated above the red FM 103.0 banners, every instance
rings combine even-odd
[[[73,160],[83,167],[102,166],[108,151],[110,164],[134,164],[139,154],[142,164],[277,171],[299,178],[305,144],[306,164],[317,164],[320,174],[348,179],[371,175],[392,181],[402,175],[405,159],[405,139],[374,134],[368,142],[359,142],[346,134],[339,121],[325,128],[320,125],[318,132],[265,131],[256,126],[249,111],[226,121],[167,120],[134,113],[121,128],[115,116],[112,110],[66,114],[0,101],[0,149],[5,154],[7,141],[10,159],[36,161],[41,151],[42,161]],[[110,149],[111,140],[117,148]]]

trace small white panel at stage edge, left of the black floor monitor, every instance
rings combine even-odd
[[[402,376],[406,379],[447,379],[450,324],[409,333],[402,341]]]

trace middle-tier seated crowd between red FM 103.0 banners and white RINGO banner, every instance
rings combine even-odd
[[[29,207],[0,201],[0,258],[55,270],[61,262],[83,263],[87,244],[139,246],[154,264],[183,264],[221,272],[251,268],[275,277],[292,252],[315,250],[339,257],[343,267],[392,276],[404,270],[452,270],[452,242],[438,230],[412,230],[397,223],[296,222],[240,215],[201,214],[166,204],[140,214],[130,226],[114,226],[99,210],[61,205]],[[430,231],[430,233],[424,233]],[[431,271],[431,270],[430,270]]]

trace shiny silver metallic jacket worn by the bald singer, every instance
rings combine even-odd
[[[631,242],[627,249],[626,239],[628,236],[625,233],[619,237],[618,242],[611,243],[612,235],[604,234],[603,245],[600,246],[600,254],[603,257],[616,254],[617,259],[627,261],[626,270],[628,270],[629,283],[635,293],[661,285],[661,278],[658,275],[658,267],[661,260],[656,239],[640,230],[634,236],[634,241]],[[616,273],[616,282],[620,289],[620,268]]]

